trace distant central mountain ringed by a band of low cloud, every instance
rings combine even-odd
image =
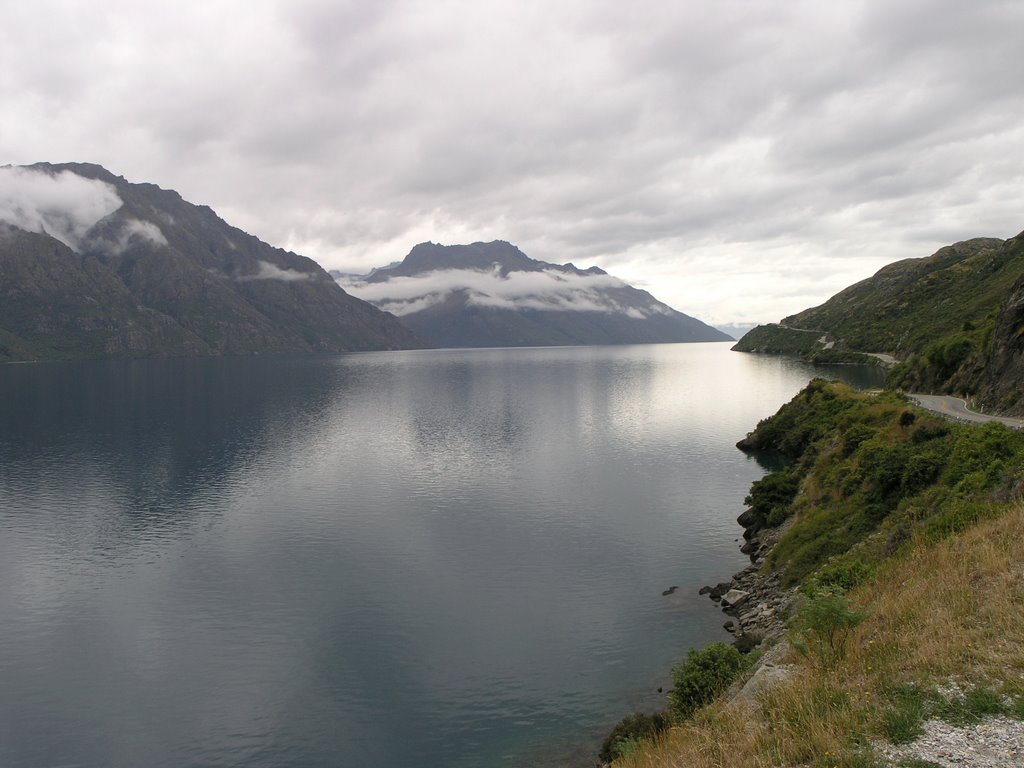
[[[398,264],[339,280],[441,347],[731,341],[598,267],[538,261],[503,241],[421,243]]]

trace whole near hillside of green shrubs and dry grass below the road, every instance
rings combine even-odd
[[[724,668],[691,657],[674,727],[625,734],[623,765],[867,768],[929,717],[1024,718],[1024,433],[816,380],[744,444],[791,462],[748,498],[752,524],[782,531],[764,570],[801,592],[788,674],[691,713],[680,673]]]

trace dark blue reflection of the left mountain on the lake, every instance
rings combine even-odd
[[[5,490],[34,494],[32,506],[73,516],[77,505],[116,509],[123,519],[113,539],[186,522],[203,506],[198,497],[221,493],[271,442],[302,439],[345,384],[344,369],[310,358],[39,365],[3,374]],[[34,482],[41,475],[45,485]]]

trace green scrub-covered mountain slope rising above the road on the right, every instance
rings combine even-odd
[[[733,349],[823,361],[882,353],[900,361],[894,386],[1022,413],[1024,232],[885,266],[820,306],[759,326]]]

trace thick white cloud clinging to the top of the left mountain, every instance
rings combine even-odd
[[[121,205],[117,190],[103,181],[70,171],[49,174],[0,168],[0,221],[30,232],[49,234],[76,252],[89,229]],[[153,237],[145,223],[136,223],[138,226],[125,231],[126,243],[133,234]],[[156,233],[163,238],[159,229]]]

